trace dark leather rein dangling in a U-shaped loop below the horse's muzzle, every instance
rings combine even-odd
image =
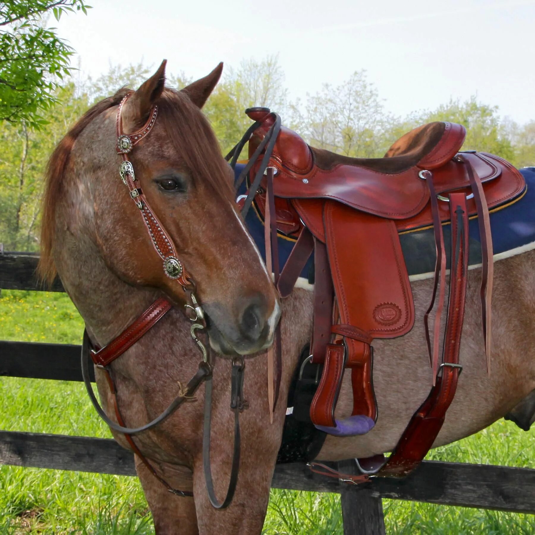
[[[232,363],[232,385],[231,385],[231,409],[234,412],[234,446],[232,451],[231,476],[228,482],[227,492],[223,501],[217,500],[216,491],[213,487],[212,469],[210,464],[210,435],[212,421],[212,377],[206,380],[206,390],[204,393],[204,427],[203,427],[203,468],[204,479],[208,491],[210,503],[216,509],[227,507],[234,496],[236,484],[238,483],[238,471],[240,468],[240,412],[247,408],[247,401],[243,398],[243,372],[245,363],[241,357],[235,358]]]

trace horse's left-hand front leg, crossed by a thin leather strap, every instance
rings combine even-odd
[[[154,518],[157,535],[198,535],[197,516],[193,498],[182,498],[169,492],[149,469],[135,457],[135,469],[143,492]],[[192,471],[183,466],[154,463],[158,473],[173,488],[191,491],[193,488]]]

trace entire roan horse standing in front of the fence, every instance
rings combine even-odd
[[[203,475],[204,389],[149,431],[137,434],[137,448],[173,488],[170,493],[136,456],[136,470],[146,493],[157,533],[259,533],[268,505],[270,483],[280,446],[288,388],[312,324],[312,293],[296,288],[281,303],[284,365],[279,402],[270,425],[264,349],[272,341],[279,300],[258,250],[234,203],[233,173],[201,108],[215,87],[221,65],[207,77],[174,91],[164,88],[165,62],[123,109],[123,132],[138,131],[158,119],[150,135],[132,152],[144,196],[152,205],[196,284],[209,318],[210,345],[223,358],[213,368],[211,461],[216,494],[223,496],[231,474],[233,414],[229,409],[233,356],[246,358],[241,416],[242,453],[239,482],[231,505],[210,505]],[[165,276],[147,228],[119,178],[116,144],[120,90],[96,104],[53,153],[44,198],[40,272],[56,272],[85,320],[91,341],[103,347],[143,310],[165,296],[175,308],[121,358],[113,362],[117,402],[125,422],[142,426],[167,407],[192,377],[199,360],[190,339],[190,320],[182,310],[185,292]],[[483,429],[502,417],[535,388],[535,253],[503,259],[494,269],[493,371],[487,376],[478,300],[480,273],[472,270],[463,327],[463,378],[434,446]],[[416,317],[429,304],[431,280],[413,282]],[[425,365],[421,322],[410,333],[374,344],[373,382],[381,417],[368,434],[327,437],[318,458],[341,460],[391,451],[407,422],[425,399],[431,370]],[[113,414],[113,396],[104,374],[96,370],[104,409]],[[350,414],[351,387],[344,380],[337,415]],[[129,443],[114,432],[124,447]]]

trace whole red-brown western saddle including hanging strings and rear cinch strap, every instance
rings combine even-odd
[[[424,316],[433,371],[431,392],[386,463],[362,476],[343,477],[361,482],[370,473],[406,475],[437,437],[462,369],[459,350],[471,217],[478,218],[482,246],[480,293],[490,369],[493,253],[488,213],[520,198],[524,179],[500,157],[460,152],[466,131],[454,123],[420,126],[396,141],[383,158],[360,159],[309,147],[299,135],[281,126],[277,114],[267,108],[250,108],[246,113],[255,124],[228,157],[235,163],[248,142],[249,162],[238,179],[238,186],[248,180],[248,194],[239,204],[245,215],[254,202],[264,219],[266,262],[281,297],[291,294],[314,254],[314,328],[307,361],[323,365],[310,407],[311,420],[318,429],[348,436],[366,433],[375,425],[378,411],[372,381],[372,341],[403,336],[415,322],[399,233],[426,227],[434,230],[434,286]],[[452,225],[452,243],[446,299],[442,225],[448,223]],[[280,273],[277,234],[295,240]],[[439,350],[443,311],[446,328],[444,347]],[[274,402],[282,364],[278,338]],[[337,419],[334,409],[346,369],[351,372],[353,411],[351,416]],[[320,473],[340,477],[324,465],[312,464]]]

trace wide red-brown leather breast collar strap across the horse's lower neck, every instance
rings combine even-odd
[[[102,349],[91,351],[91,360],[97,366],[108,366],[117,357],[121,356],[128,348],[132,347],[147,331],[149,331],[159,319],[163,318],[172,308],[172,304],[159,297],[150,307],[145,310],[134,323],[114,338]]]

